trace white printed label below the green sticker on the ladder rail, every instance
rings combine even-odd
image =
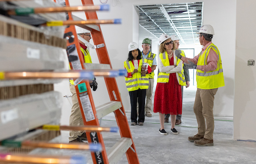
[[[87,92],[79,94],[79,98],[82,104],[82,108],[84,111],[84,117],[86,122],[95,120],[94,114],[93,114],[93,108],[90,104],[90,98]]]

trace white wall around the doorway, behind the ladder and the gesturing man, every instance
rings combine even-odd
[[[95,5],[101,4],[93,0]],[[233,116],[234,63],[236,35],[235,0],[109,0],[110,12],[97,12],[99,19],[121,18],[121,25],[101,25],[113,69],[124,68],[123,62],[128,57],[128,44],[139,42],[139,21],[134,5],[204,2],[204,24],[211,24],[215,29],[213,43],[221,53],[226,86],[221,87],[215,96],[214,114]],[[70,0],[70,5],[81,4],[81,0]],[[138,36],[136,36],[138,35]],[[228,38],[228,40],[224,39]],[[92,42],[92,41],[91,41]],[[139,43],[140,44],[140,43]],[[181,48],[181,47],[180,47]],[[154,51],[153,51],[154,52]],[[155,52],[157,53],[157,52]],[[93,63],[99,63],[95,50],[90,50]],[[105,82],[98,79],[98,89],[93,92],[96,106],[109,101]],[[131,111],[130,98],[123,77],[116,78],[125,111]],[[66,94],[65,94],[66,95]]]

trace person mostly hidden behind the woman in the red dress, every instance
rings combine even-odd
[[[172,40],[174,40],[173,42],[176,44],[176,49],[179,49],[179,46],[180,46],[180,42],[179,42],[179,37],[177,37],[177,35],[171,35],[172,37]],[[181,54],[182,56],[186,57],[184,51],[181,50]],[[183,74],[185,76],[185,80],[186,80],[186,88],[189,87],[189,68],[186,66],[186,64],[182,64],[183,65]],[[181,97],[182,97],[182,102],[183,102],[183,85],[181,85]],[[170,115],[167,114],[165,115],[165,119],[164,119],[164,122],[166,123],[169,123],[169,117]],[[176,116],[176,121],[175,121],[175,125],[179,125],[181,124],[181,115],[177,115]]]

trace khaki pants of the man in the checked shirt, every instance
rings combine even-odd
[[[198,135],[204,135],[206,139],[213,139],[214,118],[213,102],[215,89],[197,89],[195,95],[194,112],[198,122]]]

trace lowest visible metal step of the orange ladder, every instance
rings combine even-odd
[[[131,147],[131,138],[122,137],[110,150],[108,150],[108,162],[109,164],[117,164],[119,159],[125,152]]]

